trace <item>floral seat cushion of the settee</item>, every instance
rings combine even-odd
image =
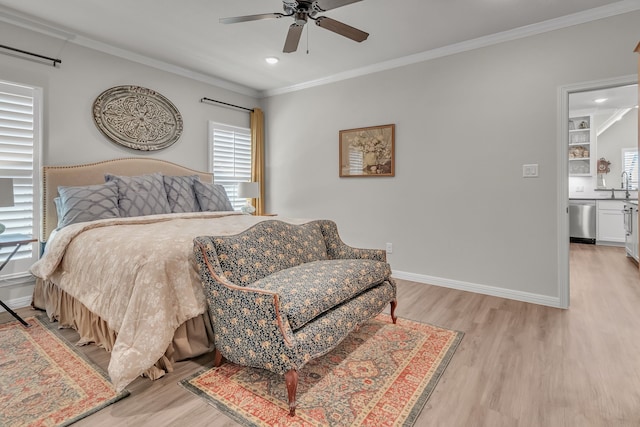
[[[295,331],[390,276],[386,262],[322,260],[277,271],[251,284],[251,288],[277,292],[283,313]]]

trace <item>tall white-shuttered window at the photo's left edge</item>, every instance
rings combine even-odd
[[[40,198],[40,105],[39,88],[0,82],[0,178],[13,179],[14,206],[0,208],[5,234],[37,237]],[[3,279],[28,276],[38,258],[37,245],[25,245],[0,273]],[[5,259],[13,248],[0,250]]]

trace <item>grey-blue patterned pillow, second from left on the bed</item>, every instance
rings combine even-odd
[[[107,182],[118,186],[120,216],[144,216],[171,213],[161,173],[139,176],[105,174]]]

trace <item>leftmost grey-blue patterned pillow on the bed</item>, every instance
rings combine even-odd
[[[86,187],[58,187],[58,228],[76,222],[117,218],[118,186],[114,182]],[[55,202],[55,200],[54,200]]]

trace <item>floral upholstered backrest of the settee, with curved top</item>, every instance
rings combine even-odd
[[[225,277],[238,286],[302,263],[327,259],[317,222],[295,225],[264,221],[240,234],[214,237],[213,245]]]

